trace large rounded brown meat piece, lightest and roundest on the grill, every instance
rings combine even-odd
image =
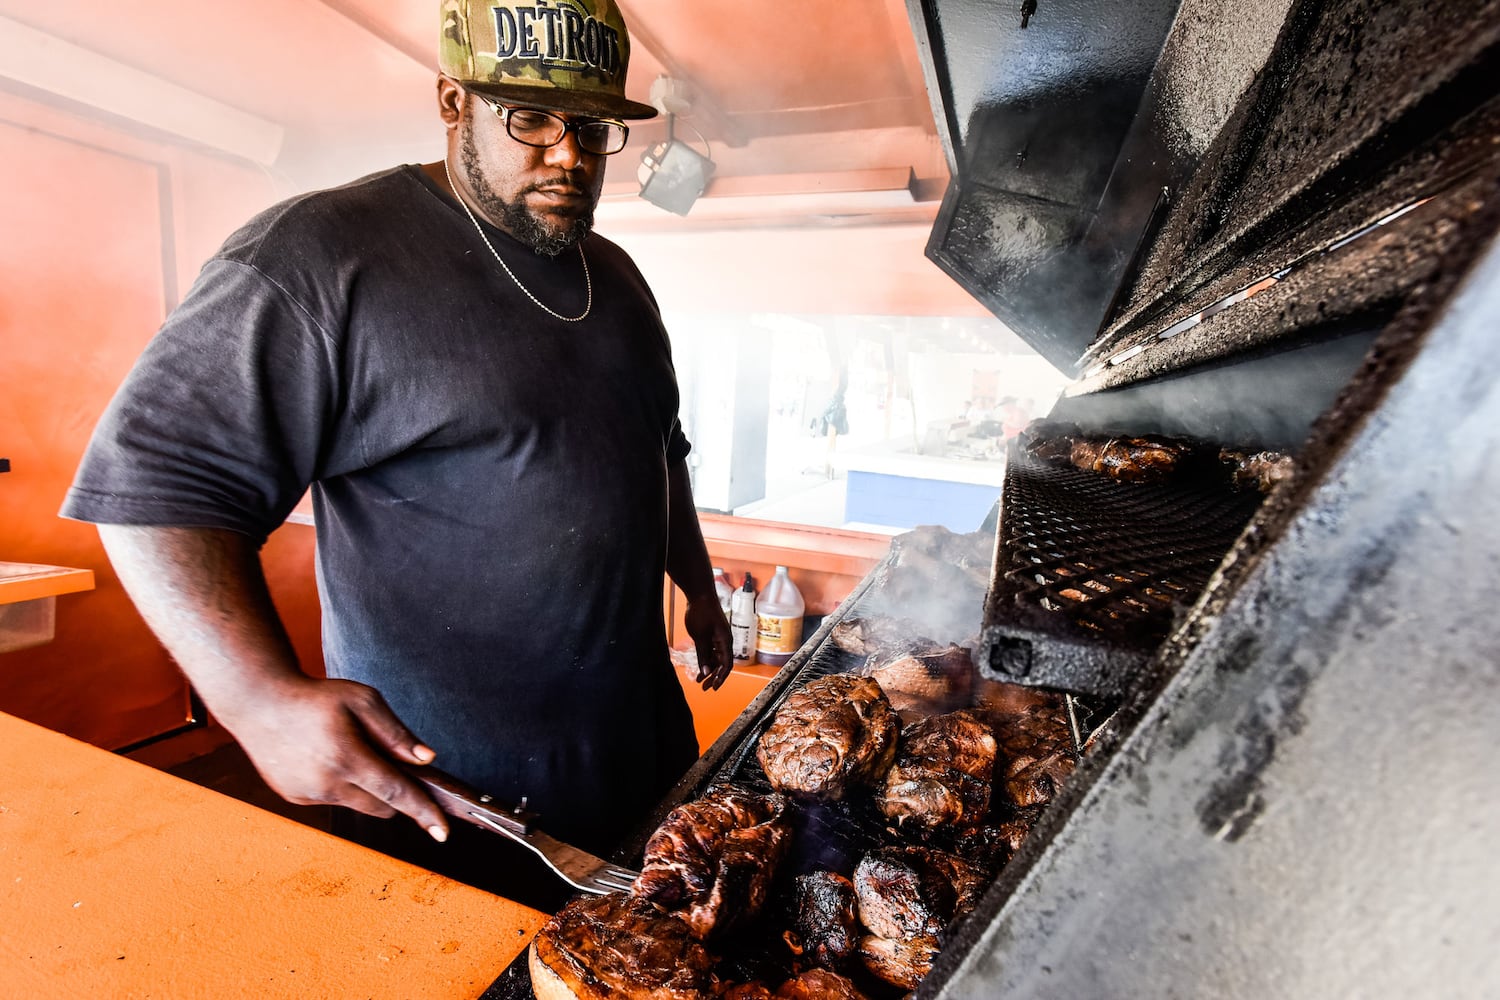
[[[756,759],[778,792],[842,799],[885,777],[898,730],[879,684],[832,673],[788,696],[760,735]]]

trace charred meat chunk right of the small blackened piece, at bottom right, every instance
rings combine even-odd
[[[854,873],[860,960],[873,975],[915,990],[932,970],[939,936],[974,909],[984,877],[969,862],[928,847],[886,847],[866,855]]]

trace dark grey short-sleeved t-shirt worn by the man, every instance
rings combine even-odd
[[[486,226],[562,315],[576,252]],[[458,777],[608,843],[696,756],[662,619],[666,333],[584,243],[538,309],[414,166],[279,204],[204,267],[105,412],[63,514],[256,540],[312,487],[330,676]]]

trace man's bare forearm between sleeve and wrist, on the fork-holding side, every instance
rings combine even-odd
[[[126,525],[100,525],[99,537],[146,624],[220,720],[250,691],[300,675],[248,537]]]

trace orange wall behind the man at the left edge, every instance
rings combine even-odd
[[[0,655],[0,711],[117,748],[186,721],[188,688],[57,508],[130,363],[202,261],[274,199],[267,177],[0,93],[0,561],[94,571],[57,598],[57,639]],[[321,669],[310,529],[266,549],[278,606]]]

